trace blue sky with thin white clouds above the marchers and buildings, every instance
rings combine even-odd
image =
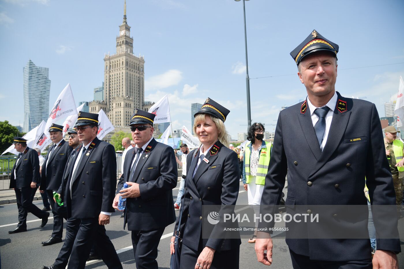
[[[48,67],[50,106],[67,83],[76,103],[91,101],[114,53],[123,0],[0,0],[0,121],[23,125],[23,67]],[[313,29],[339,44],[336,89],[384,102],[404,77],[404,1],[246,2],[252,121],[275,128],[283,105],[305,99],[289,53]],[[145,57],[145,100],[168,94],[173,128],[191,128],[191,103],[207,97],[230,110],[232,138],[246,131],[242,2],[127,0],[133,52]],[[393,63],[401,63],[387,65]],[[383,65],[377,67],[368,67]],[[367,67],[356,68],[354,67]],[[271,78],[259,78],[272,76]],[[19,101],[19,97],[21,97]]]

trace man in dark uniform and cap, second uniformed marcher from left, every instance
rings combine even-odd
[[[53,200],[53,191],[57,191],[62,182],[63,171],[67,164],[67,158],[72,152],[69,143],[63,140],[63,126],[52,124],[49,128],[50,140],[54,143],[49,147],[48,155],[42,166],[40,191],[46,191],[53,213],[53,232],[47,241],[41,242],[43,246],[49,246],[62,242],[63,219],[67,219],[66,208],[58,206]]]

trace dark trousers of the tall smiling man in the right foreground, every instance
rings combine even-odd
[[[289,249],[293,269],[372,269],[372,260],[365,261],[314,261]]]

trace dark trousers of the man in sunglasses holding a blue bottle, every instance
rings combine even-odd
[[[164,228],[152,231],[132,231],[137,269],[158,269],[157,247],[163,233]]]

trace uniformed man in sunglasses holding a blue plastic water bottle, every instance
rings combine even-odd
[[[174,150],[157,142],[153,135],[155,115],[136,109],[130,130],[136,146],[126,153],[124,173],[113,207],[118,209],[119,196],[127,198],[124,229],[132,231],[136,268],[157,269],[157,246],[164,228],[175,221],[172,189],[177,186]]]

